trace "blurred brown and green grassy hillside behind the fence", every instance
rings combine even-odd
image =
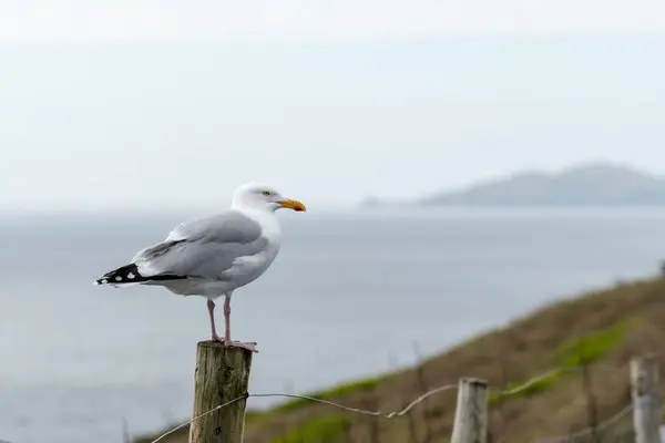
[[[490,395],[490,442],[534,442],[566,435],[618,412],[630,402],[630,359],[658,353],[664,346],[665,280],[645,280],[545,307],[417,368],[313,395],[395,411],[427,389],[454,383],[461,377],[487,379],[492,389],[501,390],[552,368],[587,364],[587,383],[583,371],[563,371],[519,394]],[[665,354],[656,358],[665,368]],[[449,391],[431,396],[408,416],[388,420],[295,400],[249,414],[245,442],[442,442],[450,436],[454,403],[456,392]],[[625,434],[630,429],[628,416],[607,433]],[[186,435],[184,430],[163,442],[184,443]],[[150,436],[137,440],[150,441]]]

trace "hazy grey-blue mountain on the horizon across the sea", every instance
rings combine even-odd
[[[376,205],[375,200],[375,205]],[[528,172],[411,202],[428,206],[665,206],[665,178],[614,164]]]

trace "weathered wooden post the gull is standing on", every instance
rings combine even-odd
[[[247,393],[252,352],[201,341],[196,348],[194,413],[197,418]],[[190,443],[242,443],[246,399],[195,420]]]

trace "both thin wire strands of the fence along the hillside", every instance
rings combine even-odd
[[[549,371],[545,371],[530,380],[528,380],[526,382],[515,387],[515,388],[511,388],[511,389],[507,389],[507,390],[491,390],[490,393],[493,393],[494,395],[515,395],[519,394],[520,392],[524,392],[526,390],[529,390],[531,387],[535,385],[536,383],[549,379],[551,377],[561,374],[563,372],[574,372],[574,371],[582,371],[585,369],[589,369],[590,367],[584,367],[584,365],[577,365],[577,367],[564,367],[564,368],[556,368],[556,369],[552,369]],[[610,365],[593,365],[594,369],[597,370],[606,370],[606,371],[614,371],[614,372],[624,372],[625,368],[616,368],[616,367],[610,367]],[[339,410],[344,410],[347,412],[351,412],[351,413],[357,413],[357,414],[362,414],[362,415],[372,415],[372,416],[377,416],[377,418],[382,418],[382,419],[393,419],[393,418],[399,418],[399,416],[403,416],[406,414],[408,414],[411,410],[413,410],[417,405],[419,405],[420,403],[422,403],[426,399],[442,393],[442,392],[447,392],[447,391],[451,391],[451,390],[457,390],[458,389],[458,383],[449,383],[449,384],[444,384],[444,385],[440,385],[438,388],[431,389],[427,392],[424,392],[423,394],[419,395],[418,398],[413,399],[410,403],[408,403],[405,408],[402,408],[401,410],[397,410],[397,411],[392,411],[392,412],[388,412],[385,413],[382,411],[372,411],[372,410],[365,410],[365,409],[359,409],[359,408],[352,408],[352,406],[348,406],[341,403],[337,403],[330,400],[325,400],[325,399],[319,399],[316,396],[310,396],[310,395],[299,395],[299,394],[287,394],[287,393],[245,393],[236,399],[233,399],[224,404],[219,404],[218,406],[203,413],[200,414],[195,418],[193,418],[192,420],[170,430],[168,432],[165,432],[164,434],[160,435],[156,440],[153,440],[151,443],[158,443],[161,441],[163,441],[163,439],[165,439],[166,436],[180,431],[183,427],[186,427],[187,425],[196,422],[197,420],[201,420],[202,418],[214,413],[215,411],[218,411],[221,409],[224,409],[233,403],[236,403],[238,401],[242,400],[246,400],[246,399],[250,399],[250,398],[283,398],[283,399],[299,399],[299,400],[306,400],[306,401],[310,401],[310,402],[315,402],[315,403],[320,403],[320,404],[325,404],[331,408],[336,408]],[[627,416],[628,414],[631,414],[631,412],[633,411],[633,403],[626,405],[625,408],[623,408],[621,411],[618,411],[616,414],[612,415],[610,419],[605,420],[602,423],[596,424],[593,427],[587,427],[584,429],[582,431],[577,431],[573,434],[570,435],[565,435],[565,436],[556,436],[556,437],[550,437],[550,439],[545,439],[545,440],[540,440],[536,443],[562,443],[562,442],[572,442],[575,441],[577,439],[591,435],[594,432],[602,432],[604,430],[607,430],[608,427],[611,427],[612,425],[614,425],[616,422],[618,422],[621,419]]]

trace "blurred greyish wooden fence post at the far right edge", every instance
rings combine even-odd
[[[658,367],[651,359],[631,361],[635,443],[661,443],[661,404],[657,393]]]

